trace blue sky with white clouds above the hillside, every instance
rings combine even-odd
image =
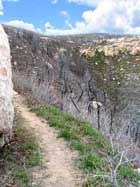
[[[140,0],[0,0],[0,22],[50,34],[140,34]]]

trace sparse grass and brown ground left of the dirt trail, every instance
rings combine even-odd
[[[16,116],[13,140],[0,150],[3,163],[0,172],[4,170],[3,175],[9,175],[6,181],[9,186],[32,187],[31,169],[41,163],[39,146],[32,133],[25,129],[24,123],[24,119]]]

